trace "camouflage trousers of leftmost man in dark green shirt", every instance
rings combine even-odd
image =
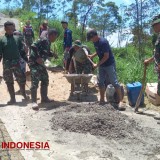
[[[4,60],[3,61],[3,78],[5,82],[8,84],[14,84],[15,76],[17,82],[19,84],[26,83],[26,76],[21,69],[19,60]]]

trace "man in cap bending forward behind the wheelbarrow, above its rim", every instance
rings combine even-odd
[[[77,74],[90,74],[92,72],[92,64],[88,60],[87,55],[89,49],[82,45],[80,40],[74,42],[73,47],[69,50],[70,58],[67,64],[70,64],[72,58],[74,59],[74,67]]]

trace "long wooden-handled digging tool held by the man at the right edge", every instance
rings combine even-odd
[[[139,105],[140,105],[140,102],[141,102],[141,99],[142,99],[142,95],[143,95],[144,90],[145,90],[146,70],[147,70],[147,66],[144,65],[143,79],[142,79],[142,88],[140,90],[140,93],[139,93],[139,96],[138,96],[138,99],[137,99],[136,105],[135,105],[135,113],[139,113],[139,114],[140,113],[143,114],[143,112],[138,111],[138,108],[139,108]]]

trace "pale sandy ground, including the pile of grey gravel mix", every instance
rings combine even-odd
[[[160,160],[160,125],[152,116],[135,114],[129,106],[125,112],[99,106],[92,85],[88,96],[76,102],[62,72],[49,72],[49,80],[48,95],[55,102],[40,104],[38,90],[39,111],[21,95],[16,95],[16,105],[7,106],[5,82],[0,85],[0,118],[12,140],[50,145],[50,150],[20,150],[25,160]],[[30,81],[27,86],[30,95]]]

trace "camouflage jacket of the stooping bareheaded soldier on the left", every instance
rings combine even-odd
[[[36,60],[42,58],[46,61],[48,57],[53,57],[53,53],[50,51],[51,43],[47,38],[39,39],[31,45],[31,54],[29,56],[29,66],[38,65]]]

